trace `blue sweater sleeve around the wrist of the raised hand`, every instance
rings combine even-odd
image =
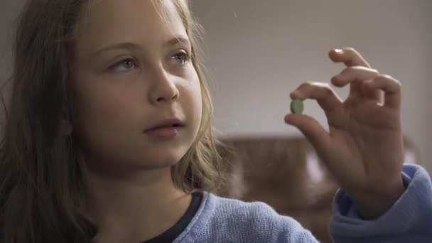
[[[334,242],[432,242],[432,184],[426,170],[404,165],[405,192],[377,220],[362,220],[352,200],[336,193],[330,234]]]

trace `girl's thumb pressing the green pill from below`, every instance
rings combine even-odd
[[[296,126],[316,149],[318,154],[327,154],[331,145],[330,135],[318,121],[305,114],[287,114],[285,122]]]

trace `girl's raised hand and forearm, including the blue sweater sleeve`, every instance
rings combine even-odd
[[[420,166],[403,166],[401,83],[371,68],[353,48],[329,55],[345,64],[331,82],[350,86],[347,99],[320,82],[305,82],[291,93],[293,99],[315,99],[329,131],[304,114],[288,114],[285,121],[311,141],[341,185],[331,227],[335,241],[432,242],[426,229],[432,225],[431,180]]]

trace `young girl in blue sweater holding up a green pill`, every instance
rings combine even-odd
[[[317,242],[224,170],[185,0],[33,0],[14,40],[0,149],[0,242]],[[432,186],[403,166],[401,85],[352,48],[316,99],[330,134],[288,114],[338,179],[335,242],[431,242]],[[384,92],[384,97],[381,93]],[[213,194],[215,193],[215,194]]]

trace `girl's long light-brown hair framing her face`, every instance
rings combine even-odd
[[[171,169],[187,193],[220,191],[225,170],[210,124],[212,102],[197,50],[200,30],[188,2],[172,0],[193,45],[202,122],[193,146]],[[96,226],[84,210],[80,146],[61,132],[73,124],[70,66],[80,13],[88,0],[28,1],[13,40],[11,93],[0,141],[0,243],[90,242]],[[7,103],[7,104],[6,104]],[[7,107],[7,108],[6,108]]]

